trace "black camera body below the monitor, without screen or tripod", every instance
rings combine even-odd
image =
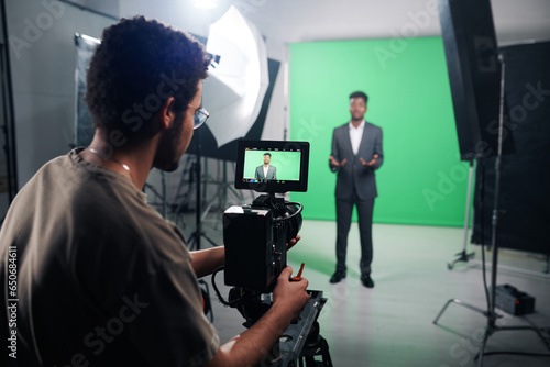
[[[262,194],[223,214],[226,285],[268,293],[286,267],[286,244],[301,229],[298,207]]]

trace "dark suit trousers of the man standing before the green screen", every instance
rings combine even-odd
[[[371,274],[373,260],[373,210],[374,198],[360,200],[354,193],[349,200],[337,199],[337,271],[345,271],[348,234],[351,226],[353,205],[358,208],[359,235],[361,240],[361,274]]]

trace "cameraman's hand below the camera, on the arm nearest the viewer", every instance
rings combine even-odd
[[[289,316],[288,321],[296,319],[311,298],[306,291],[309,281],[304,277],[299,281],[290,281],[292,276],[293,268],[287,266],[280,271],[273,290],[273,307]]]

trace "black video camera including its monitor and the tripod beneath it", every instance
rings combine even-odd
[[[275,193],[307,191],[308,167],[307,142],[238,142],[235,188],[263,194],[251,205],[233,205],[223,213],[223,270],[226,285],[233,286],[229,301],[223,300],[216,286],[218,270],[212,275],[212,286],[223,304],[239,310],[246,327],[273,304],[270,293],[287,265],[287,243],[301,229],[302,205],[276,198]],[[285,341],[276,343],[264,357],[266,365],[296,366],[298,358],[315,363],[314,356],[321,355],[328,362],[323,366],[332,366],[317,322],[327,299],[322,298],[322,291],[308,290],[308,293],[311,298],[285,331]]]

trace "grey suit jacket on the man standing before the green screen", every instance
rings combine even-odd
[[[361,164],[360,158],[370,162],[375,154],[378,155],[375,166],[369,167]],[[374,171],[382,166],[384,160],[381,127],[365,121],[365,129],[356,156],[353,154],[351,147],[349,124],[345,123],[334,129],[331,155],[337,162],[346,159],[343,167],[337,167],[329,163],[330,169],[333,173],[338,171],[337,199],[351,199],[354,189],[359,199],[369,199],[378,196]]]

